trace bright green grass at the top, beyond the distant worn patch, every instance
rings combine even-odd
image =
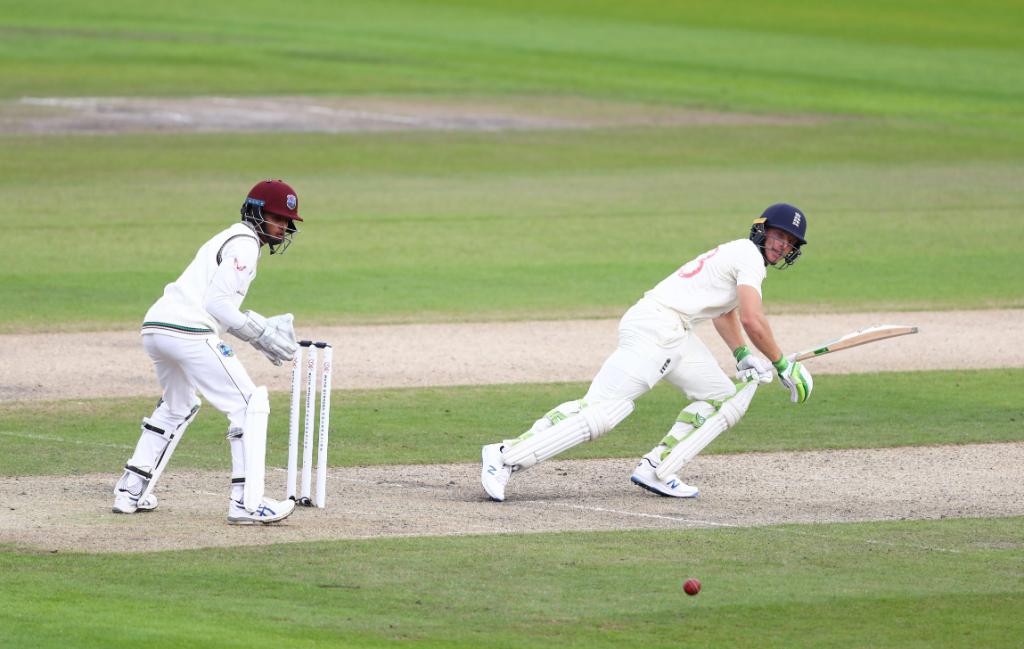
[[[0,96],[555,93],[1010,124],[1022,20],[1009,0],[57,0],[5,11]]]

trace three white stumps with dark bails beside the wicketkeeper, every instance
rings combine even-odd
[[[302,443],[302,483],[301,495],[296,492],[295,482],[298,473],[299,456],[299,406],[302,395],[302,366],[305,351],[306,375],[306,418]],[[311,500],[313,465],[313,419],[316,415],[316,364],[319,350],[324,350],[324,363],[321,369],[321,407],[318,444],[316,448],[316,499]],[[300,340],[299,350],[295,354],[292,365],[292,409],[288,421],[288,497],[296,505],[323,508],[327,504],[327,446],[331,426],[331,366],[334,349],[329,343]]]

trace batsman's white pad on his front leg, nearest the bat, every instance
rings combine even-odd
[[[662,440],[672,450],[655,471],[658,479],[674,476],[716,437],[735,426],[750,407],[757,389],[758,382],[752,381],[741,384],[736,394],[717,408],[707,401],[694,401],[683,408],[679,423]]]

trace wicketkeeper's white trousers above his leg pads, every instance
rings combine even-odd
[[[207,403],[227,416],[229,428],[243,428],[246,405],[256,389],[231,347],[216,336],[177,338],[143,334],[164,400],[153,419],[174,430],[196,404],[198,390]]]

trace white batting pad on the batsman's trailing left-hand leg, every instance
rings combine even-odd
[[[598,401],[582,408],[547,430],[540,431],[508,448],[502,457],[506,465],[528,469],[577,444],[597,439],[617,426],[633,412],[633,401]]]

